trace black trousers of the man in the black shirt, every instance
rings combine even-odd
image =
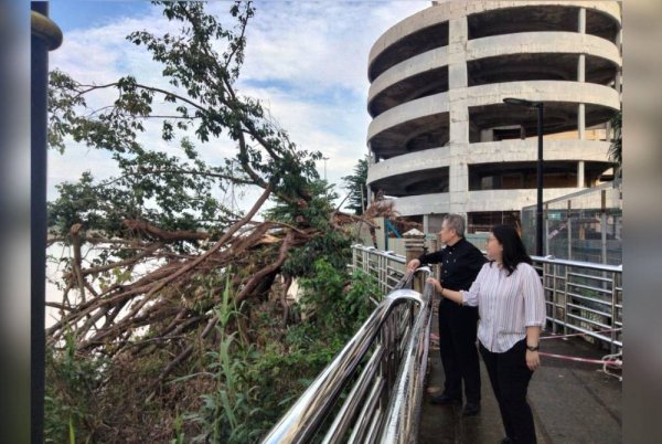
[[[444,364],[444,393],[480,402],[480,363],[476,347],[478,308],[442,299],[439,304],[439,351]]]

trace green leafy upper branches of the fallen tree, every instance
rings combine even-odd
[[[51,224],[61,232],[81,222],[88,230],[116,234],[126,218],[146,219],[164,229],[210,228],[211,221],[233,216],[215,199],[213,186],[222,190],[231,184],[256,186],[288,202],[310,198],[306,187],[318,176],[314,161],[321,155],[298,149],[266,117],[259,101],[242,96],[236,88],[245,29],[254,15],[250,2],[231,8],[237,30],[223,28],[204,12],[203,3],[161,4],[169,20],[182,23],[181,34],[138,31],[127,39],[162,64],[170,88],[141,83],[131,75],[104,85],[81,84],[57,71],[51,75],[50,146],[63,151],[70,136],[108,151],[120,171],[104,182],[93,183],[87,173],[78,183],[58,187]],[[218,53],[216,43],[224,43],[225,51]],[[87,105],[88,97],[109,88],[117,93],[114,103],[96,109]],[[161,120],[160,137],[178,144],[182,156],[139,142],[148,119]],[[224,165],[209,165],[200,159],[189,138],[191,131],[200,144],[228,137],[236,156],[226,158]]]

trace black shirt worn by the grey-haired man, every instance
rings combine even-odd
[[[478,272],[488,260],[473,244],[460,237],[453,245],[447,245],[430,254],[418,257],[421,264],[441,264],[441,286],[459,292],[469,289]]]

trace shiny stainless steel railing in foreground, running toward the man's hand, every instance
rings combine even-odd
[[[404,264],[404,258],[398,261]],[[383,262],[377,263],[387,269]],[[380,271],[372,258],[365,265]],[[423,267],[416,276],[402,271],[380,274],[391,293],[271,429],[264,444],[417,441],[434,292],[431,284],[424,285],[429,273]],[[396,275],[401,278],[394,281]],[[423,295],[404,288],[415,279],[425,286]]]

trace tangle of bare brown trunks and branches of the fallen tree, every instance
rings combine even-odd
[[[68,297],[64,297],[63,303],[49,303],[62,313],[62,318],[47,329],[49,338],[54,341],[62,339],[65,332],[73,334],[79,351],[103,349],[106,356],[127,349],[138,353],[147,346],[163,345],[183,332],[195,331],[200,326],[204,328],[199,337],[204,339],[217,321],[212,310],[217,300],[199,295],[196,289],[201,283],[196,278],[215,272],[220,276],[222,271],[232,269],[234,278],[231,284],[238,288],[234,303],[239,305],[244,299],[266,294],[289,251],[318,234],[314,229],[299,230],[277,222],[253,223],[252,218],[269,194],[270,189],[267,188],[244,218],[199,255],[177,257],[170,246],[175,241],[206,239],[209,235],[205,233],[168,232],[146,221],[126,220],[126,226],[141,237],[130,243],[130,249],[138,253],[124,261],[89,268],[82,268],[79,253],[75,254],[73,272],[65,276],[67,288],[78,288],[81,295],[85,294],[84,288],[89,290],[86,292],[87,297],[76,299],[77,303],[71,303]],[[275,229],[278,230],[275,232]],[[78,230],[79,226],[72,230],[74,245],[79,245]],[[87,241],[104,244],[107,240]],[[74,250],[78,251],[79,246]],[[121,274],[159,257],[164,258],[160,266],[147,271],[134,282],[94,289],[95,281],[103,273],[113,269]],[[244,273],[237,269],[238,266],[249,272]],[[217,292],[221,293],[222,288]],[[196,304],[201,306],[194,307]],[[149,337],[142,338],[146,332]],[[188,346],[174,357],[160,373],[159,380],[185,359],[193,347]]]

